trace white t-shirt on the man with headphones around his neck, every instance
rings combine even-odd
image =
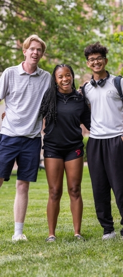
[[[103,87],[85,86],[85,95],[91,105],[90,137],[110,138],[123,134],[123,103],[114,86],[114,75]],[[123,78],[121,79],[123,91]]]

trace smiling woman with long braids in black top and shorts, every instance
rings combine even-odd
[[[80,123],[90,129],[90,111],[84,97],[76,91],[74,72],[69,65],[61,64],[54,68],[51,89],[44,95],[40,113],[46,119],[43,146],[49,185],[47,205],[49,237],[46,241],[56,240],[55,228],[63,193],[64,170],[70,196],[74,235],[76,239],[84,241],[80,233],[83,214],[81,179],[84,164]]]

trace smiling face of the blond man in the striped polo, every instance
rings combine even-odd
[[[28,49],[23,49],[26,61],[30,66],[37,66],[40,58],[43,56],[42,46],[39,42],[32,41]]]

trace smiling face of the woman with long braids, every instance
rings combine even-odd
[[[65,67],[59,67],[55,71],[55,82],[58,85],[58,91],[61,93],[71,93],[73,77],[70,69]]]

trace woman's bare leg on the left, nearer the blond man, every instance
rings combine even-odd
[[[55,236],[57,217],[60,210],[60,199],[63,194],[64,161],[61,159],[45,158],[45,169],[49,185],[47,217],[49,236]]]

